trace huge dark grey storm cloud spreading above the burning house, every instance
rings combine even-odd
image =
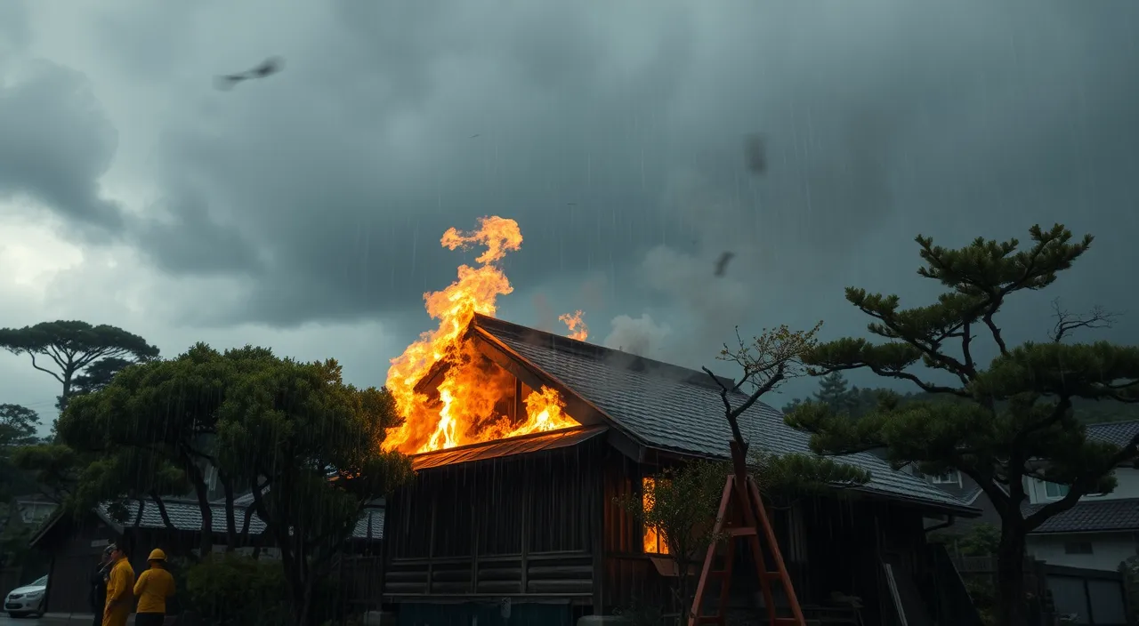
[[[522,226],[506,261],[519,293],[605,278],[598,339],[647,313],[654,337],[714,346],[736,323],[846,315],[847,283],[918,294],[917,232],[1090,230],[1072,287],[1088,297],[1139,262],[1124,234],[1139,205],[1129,5],[330,7],[311,40],[243,26],[288,68],[189,98],[158,158],[170,205],[200,228],[170,230],[177,245],[133,230],[170,272],[252,277],[235,318],[419,311],[475,256],[440,236],[490,214]],[[206,85],[206,65],[180,72]],[[753,132],[763,178],[745,167]],[[726,249],[735,282],[708,285]]]

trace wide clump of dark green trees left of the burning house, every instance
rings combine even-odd
[[[281,550],[277,567],[302,620],[364,505],[411,476],[405,456],[380,447],[398,421],[385,389],[344,384],[335,361],[198,344],[73,396],[57,433],[63,450],[82,462],[82,471],[72,466],[77,509],[190,486],[202,494],[203,461],[215,464],[223,481],[257,485],[257,517]]]

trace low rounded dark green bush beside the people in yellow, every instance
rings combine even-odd
[[[288,621],[288,586],[278,562],[211,555],[189,567],[185,578],[187,608],[206,624],[277,626]]]

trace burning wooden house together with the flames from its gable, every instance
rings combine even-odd
[[[440,328],[390,370],[407,419],[384,445],[412,455],[416,478],[388,500],[382,566],[354,600],[400,624],[568,625],[666,604],[667,546],[614,499],[665,467],[729,454],[720,387],[706,373],[588,344],[580,315],[577,338],[492,316],[494,296],[510,290],[494,261],[521,241],[509,220],[449,231],[445,246],[487,250],[480,267],[460,267],[450,288],[425,296]],[[765,451],[809,450],[808,435],[762,403],[740,427]],[[899,612],[945,623],[956,599],[944,598],[923,518],[977,511],[871,454],[843,460],[870,483],[842,501],[805,497],[770,513],[804,612],[837,611],[835,624],[847,613],[851,624],[888,624]],[[756,588],[737,575],[731,592],[754,610]],[[861,608],[823,609],[836,594]]]

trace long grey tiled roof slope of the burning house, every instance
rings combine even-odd
[[[731,430],[723,417],[720,389],[706,373],[482,315],[476,324],[647,445],[700,456],[728,456]],[[738,406],[745,400],[743,394],[736,394],[732,403]],[[810,435],[787,426],[782,414],[765,404],[752,405],[740,415],[739,426],[753,445],[770,453],[810,452]],[[960,500],[920,478],[891,469],[872,454],[851,454],[839,460],[871,472],[868,491],[965,508]]]

